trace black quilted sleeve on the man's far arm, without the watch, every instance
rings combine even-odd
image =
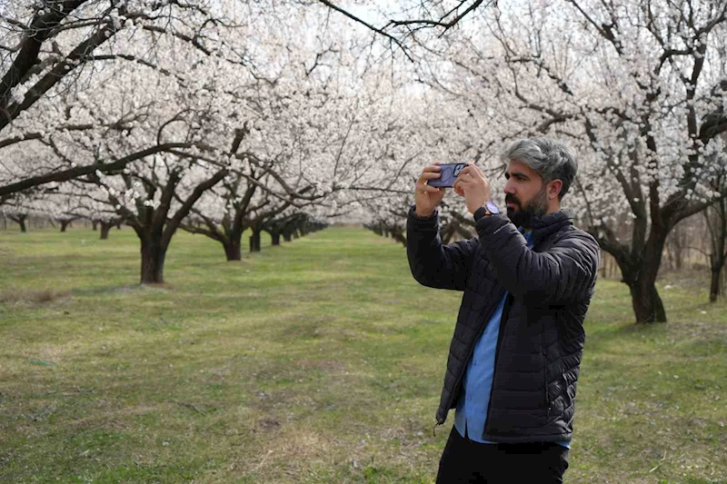
[[[414,207],[409,210],[406,254],[414,279],[424,286],[464,291],[476,248],[476,239],[443,245],[439,213],[419,218]]]

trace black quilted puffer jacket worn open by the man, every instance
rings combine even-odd
[[[406,247],[414,279],[464,291],[450,345],[437,423],[457,405],[464,371],[504,291],[493,389],[483,440],[571,440],[573,400],[583,355],[583,319],[600,249],[573,227],[569,212],[532,222],[533,249],[506,215],[476,223],[477,237],[443,245],[439,220],[409,212]]]

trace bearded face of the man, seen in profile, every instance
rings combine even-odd
[[[547,185],[538,173],[520,162],[510,162],[505,178],[507,216],[516,226],[529,228],[533,217],[548,212]]]

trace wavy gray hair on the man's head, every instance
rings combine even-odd
[[[543,183],[553,180],[563,182],[558,199],[571,188],[578,163],[575,155],[565,144],[551,138],[526,138],[515,140],[503,151],[503,162],[526,164],[543,178]]]

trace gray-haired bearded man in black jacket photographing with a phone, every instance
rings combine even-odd
[[[593,296],[598,244],[561,210],[576,172],[573,153],[546,138],[504,152],[507,214],[475,165],[453,189],[477,236],[443,245],[434,164],[416,182],[407,222],[414,279],[464,291],[437,424],[455,410],[437,483],[560,483],[568,467],[583,319]]]

